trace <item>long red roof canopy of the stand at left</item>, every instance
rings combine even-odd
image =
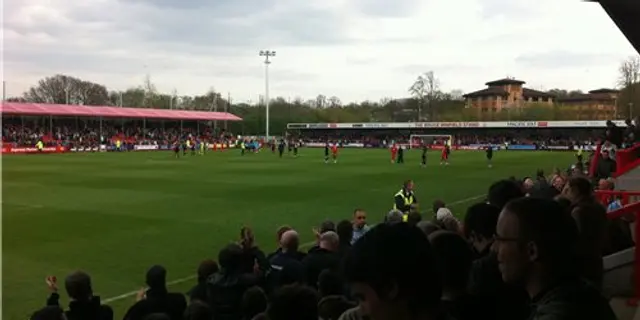
[[[228,112],[186,111],[147,108],[116,108],[109,106],[79,106],[46,103],[3,102],[0,112],[11,115],[67,116],[67,117],[108,117],[108,118],[146,118],[166,120],[229,120],[241,121]]]

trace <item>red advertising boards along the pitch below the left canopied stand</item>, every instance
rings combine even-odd
[[[214,143],[210,144],[209,150],[223,151],[229,149],[228,144]],[[169,145],[123,145],[121,150],[125,151],[168,151],[173,149]],[[116,152],[114,145],[101,144],[96,147],[44,147],[42,150],[38,150],[35,147],[14,147],[11,145],[2,146],[2,154],[40,154],[40,153],[67,153],[67,152]]]

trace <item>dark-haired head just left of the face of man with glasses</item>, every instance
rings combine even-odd
[[[477,252],[483,252],[493,242],[500,209],[488,203],[474,204],[464,217],[464,235]]]

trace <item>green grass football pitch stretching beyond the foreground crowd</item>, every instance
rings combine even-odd
[[[170,290],[186,292],[200,261],[217,260],[244,225],[269,252],[283,224],[307,242],[313,226],[350,219],[356,207],[375,223],[406,179],[416,182],[422,211],[440,198],[460,216],[495,180],[573,161],[572,153],[498,151],[489,169],[484,152],[454,151],[451,165],[440,166],[432,151],[421,168],[415,150],[404,165],[389,163],[387,150],[343,149],[337,164],[323,156],[323,149],[282,159],[238,150],[180,159],[171,152],[3,156],[3,318],[24,319],[44,306],[48,275],[58,276],[66,306],[64,277],[82,269],[120,319],[148,267],[164,265]]]

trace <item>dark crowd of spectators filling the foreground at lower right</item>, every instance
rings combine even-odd
[[[308,250],[298,231],[278,228],[268,254],[244,227],[217,261],[200,263],[187,293],[170,291],[164,267],[149,268],[148,289],[124,319],[615,319],[602,292],[603,256],[633,240],[629,224],[609,221],[606,210],[581,171],[540,171],[491,184],[463,221],[441,200],[413,206],[407,219],[391,211],[376,226],[356,209],[322,222]],[[47,283],[47,306],[31,319],[114,319],[88,274],[66,277],[64,309],[56,278]]]

